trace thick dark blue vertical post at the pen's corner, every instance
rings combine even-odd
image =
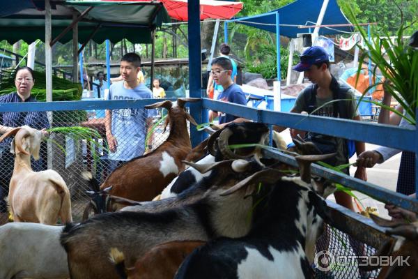
[[[200,1],[187,1],[187,16],[189,24],[189,96],[192,98],[202,98],[201,87],[201,37],[200,37]],[[190,103],[190,114],[197,123],[202,123],[203,107],[201,102]],[[190,128],[190,138],[192,146],[196,146],[203,140],[203,133],[199,133],[196,128]]]

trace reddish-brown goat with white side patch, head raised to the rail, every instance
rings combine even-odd
[[[170,135],[157,149],[144,156],[134,158],[114,169],[102,183],[100,189],[112,186],[110,195],[125,197],[134,201],[147,201],[159,195],[183,167],[184,160],[192,150],[187,121],[197,125],[185,111],[186,102],[196,102],[196,98],[178,98],[173,104],[170,100],[147,105],[147,109],[164,107],[168,115],[164,130],[170,123]]]

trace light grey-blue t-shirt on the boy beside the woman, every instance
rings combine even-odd
[[[107,100],[153,98],[153,93],[145,84],[139,84],[134,89],[126,89],[123,84],[123,81],[111,84]],[[127,161],[141,156],[145,151],[146,119],[155,115],[155,110],[112,110],[111,133],[116,137],[118,146],[115,153],[109,153],[109,159]]]

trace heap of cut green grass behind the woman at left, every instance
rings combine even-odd
[[[16,91],[15,71],[3,70],[0,82],[0,96]],[[31,90],[32,96],[38,101],[45,101],[46,84],[45,72],[33,71],[35,84]],[[82,84],[70,82],[60,77],[52,76],[52,100],[81,100]]]

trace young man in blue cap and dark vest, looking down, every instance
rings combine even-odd
[[[344,119],[361,120],[356,110],[355,95],[350,87],[339,84],[330,73],[329,54],[323,47],[309,47],[300,56],[300,62],[293,67],[293,70],[304,72],[304,77],[312,82],[303,89],[295,101],[291,112],[307,112],[317,116],[329,116]],[[341,100],[332,102],[332,100]],[[284,127],[275,127],[275,130],[284,130]],[[304,132],[291,129],[292,137],[302,137],[304,140],[313,142],[322,153],[336,153],[336,156],[325,163],[330,165],[343,165],[348,163],[348,146],[345,139],[321,135],[318,133]],[[364,151],[364,142],[355,142],[357,154]],[[349,174],[348,168],[343,172]],[[355,177],[367,180],[364,167],[357,167]],[[343,192],[334,194],[336,202],[354,211],[353,199]]]

